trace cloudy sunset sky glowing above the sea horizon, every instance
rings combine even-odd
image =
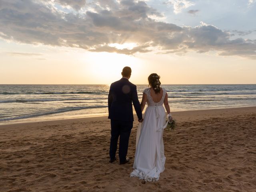
[[[256,0],[0,0],[0,84],[256,84]]]

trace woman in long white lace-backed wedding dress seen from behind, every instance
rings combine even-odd
[[[148,83],[150,88],[143,91],[140,104],[143,111],[147,102],[148,107],[144,113],[144,121],[139,124],[136,138],[136,152],[131,177],[139,177],[145,181],[159,180],[160,173],[164,171],[164,142],[163,132],[166,127],[166,113],[168,121],[172,121],[170,106],[166,90],[161,88],[160,76],[150,74]]]

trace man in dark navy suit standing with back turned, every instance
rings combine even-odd
[[[130,67],[124,67],[121,73],[122,78],[110,85],[108,94],[108,118],[111,123],[110,163],[116,160],[119,136],[119,162],[120,164],[126,164],[130,160],[126,158],[126,154],[134,120],[132,103],[138,116],[138,121],[143,121],[136,85],[129,81],[131,73]]]

